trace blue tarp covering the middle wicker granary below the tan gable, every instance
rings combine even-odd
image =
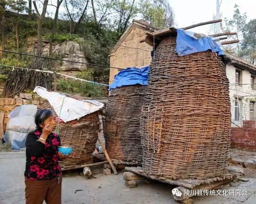
[[[146,86],[149,72],[149,66],[142,68],[128,67],[122,71],[119,71],[119,73],[115,75],[114,82],[110,85],[109,90],[115,89],[117,87],[136,84]]]

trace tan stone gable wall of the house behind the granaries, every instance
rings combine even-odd
[[[146,42],[140,42],[140,40],[145,39],[146,32],[142,28],[134,27],[119,45],[115,53],[110,56],[110,66],[126,68],[150,65],[152,46]],[[118,71],[118,69],[110,68],[110,84],[113,82],[114,76]]]

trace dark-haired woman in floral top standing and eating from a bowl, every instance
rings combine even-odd
[[[61,169],[58,160],[59,137],[53,133],[56,122],[52,111],[40,110],[35,115],[36,130],[26,140],[26,204],[61,203]]]

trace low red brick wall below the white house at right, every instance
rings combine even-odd
[[[244,120],[243,127],[231,128],[231,147],[256,151],[256,129],[254,120]]]

